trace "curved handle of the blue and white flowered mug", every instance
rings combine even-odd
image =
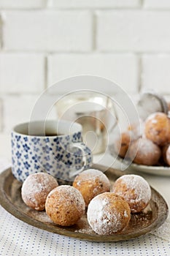
[[[81,151],[81,153],[79,153],[78,156],[82,157],[82,167],[80,167],[79,165],[78,167],[80,168],[77,169],[75,166],[75,168],[69,172],[69,178],[72,178],[73,176],[76,176],[77,174],[81,173],[82,170],[90,168],[90,166],[93,163],[93,154],[90,151],[90,148],[88,148],[88,146],[85,145],[85,143],[72,143],[72,145],[70,146],[70,150],[72,150],[73,148],[80,149]]]

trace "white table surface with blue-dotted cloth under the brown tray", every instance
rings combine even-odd
[[[112,158],[106,155],[94,157],[109,165]],[[9,136],[0,135],[0,172],[10,162]],[[7,165],[6,165],[7,164]],[[3,165],[3,166],[2,166]],[[117,162],[114,164],[117,167]],[[151,176],[140,173],[150,185],[163,195],[170,208],[170,176]],[[0,255],[170,255],[170,236],[160,238],[147,234],[130,241],[96,243],[80,241],[32,227],[16,219],[0,206]]]

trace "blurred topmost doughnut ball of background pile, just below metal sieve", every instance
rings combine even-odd
[[[165,113],[153,113],[144,124],[144,135],[152,142],[163,146],[170,141],[170,121]]]

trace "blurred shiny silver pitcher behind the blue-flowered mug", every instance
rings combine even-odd
[[[83,141],[93,154],[106,150],[108,129],[116,124],[115,108],[109,97],[96,92],[74,92],[59,99],[56,110],[58,118],[82,124]]]

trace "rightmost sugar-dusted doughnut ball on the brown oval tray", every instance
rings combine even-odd
[[[142,211],[151,198],[150,185],[144,178],[134,174],[117,178],[112,187],[112,192],[126,200],[132,213]]]

